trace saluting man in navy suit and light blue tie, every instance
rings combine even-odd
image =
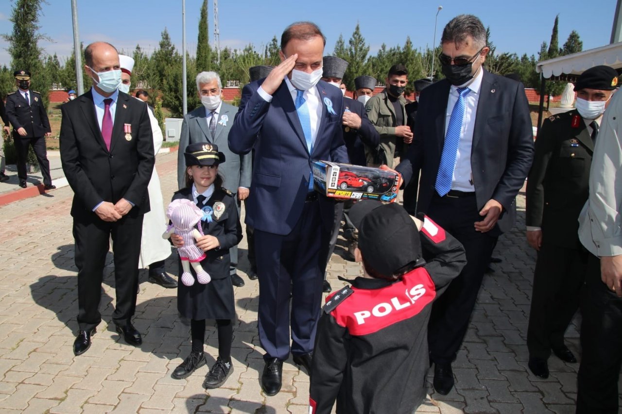
[[[266,350],[261,382],[268,395],[281,390],[290,338],[295,363],[309,370],[312,359],[335,216],[334,201],[313,191],[312,160],[348,161],[343,95],[320,80],[324,45],[313,23],[287,27],[281,64],[266,79],[244,86],[229,133],[233,152],[255,149],[246,223],[255,228],[259,340]]]

